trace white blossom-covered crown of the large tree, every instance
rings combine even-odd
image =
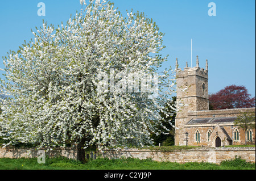
[[[33,44],[5,58],[6,79],[0,81],[9,99],[2,100],[0,137],[6,145],[152,144],[150,134],[160,133],[159,112],[174,92],[167,72],[158,81],[168,90],[155,99],[141,91],[97,92],[100,72],[154,73],[167,61],[157,54],[164,48],[159,28],[143,14],[127,15],[106,1],[90,1],[66,26],[44,22]]]

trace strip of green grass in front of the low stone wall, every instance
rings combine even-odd
[[[247,163],[240,158],[213,163],[174,163],[156,162],[151,159],[106,159],[98,158],[82,164],[67,158],[46,158],[45,164],[39,164],[37,158],[1,158],[1,170],[255,170],[255,163]]]

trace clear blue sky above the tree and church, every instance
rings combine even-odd
[[[38,16],[39,2],[46,5],[46,16]],[[162,55],[169,54],[163,67],[193,66],[196,55],[200,67],[209,63],[209,93],[229,85],[243,85],[255,96],[255,1],[231,0],[112,0],[122,14],[126,10],[144,12],[166,33]],[[216,16],[209,16],[208,4],[216,4]],[[42,19],[57,27],[80,10],[79,0],[0,1],[0,68],[2,56],[32,38],[31,28],[42,26]],[[1,72],[2,74],[2,72]],[[1,75],[1,78],[3,76]]]

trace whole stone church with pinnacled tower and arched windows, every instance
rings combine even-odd
[[[225,145],[255,144],[255,129],[244,131],[234,125],[242,112],[254,112],[254,108],[209,110],[208,60],[205,69],[196,67],[184,70],[176,58],[177,102],[180,106],[175,118],[175,145],[220,147]],[[178,105],[179,105],[178,104]]]

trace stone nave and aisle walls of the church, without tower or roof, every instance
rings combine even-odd
[[[214,117],[236,117],[241,114],[241,112],[255,112],[254,108],[237,108],[237,109],[229,109],[229,110],[213,110],[213,111],[189,111],[188,112],[188,119],[200,119],[200,118],[213,118]],[[196,125],[185,125],[185,131],[188,132],[188,145],[204,145],[204,146],[215,146],[215,138],[216,136],[221,138],[221,146],[224,145],[230,145],[230,142],[228,141],[228,136],[224,134],[224,132],[221,130],[221,128],[224,128],[226,133],[229,135],[229,138],[232,138],[234,135],[234,130],[237,128],[239,131],[239,140],[233,141],[232,145],[243,145],[245,144],[245,138],[246,133],[242,128],[236,127],[234,123],[218,123],[218,124],[196,124]],[[208,131],[212,132],[212,135],[208,139]],[[195,133],[196,131],[200,132],[200,141],[196,141]],[[255,129],[253,131],[253,142],[247,142],[247,144],[255,144]],[[183,137],[183,145],[185,145],[186,137],[183,133],[183,135],[180,135],[180,137]],[[233,140],[233,138],[232,138]]]

